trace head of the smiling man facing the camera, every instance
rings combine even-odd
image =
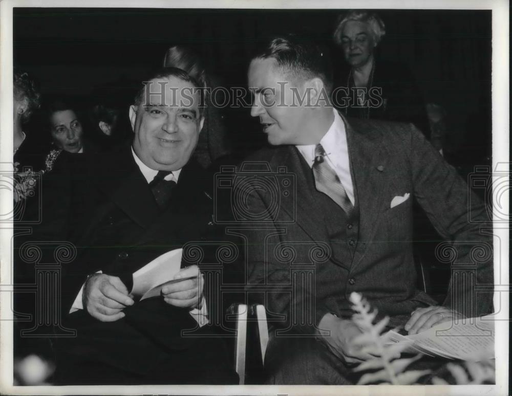
[[[133,149],[155,170],[178,170],[190,159],[203,127],[201,87],[181,69],[164,68],[144,82],[130,106]]]

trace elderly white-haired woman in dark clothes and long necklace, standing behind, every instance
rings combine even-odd
[[[412,122],[425,136],[429,123],[423,99],[409,70],[403,64],[376,56],[376,48],[386,34],[380,17],[368,10],[352,10],[340,15],[334,41],[342,50],[350,69],[338,76],[334,104],[347,116]],[[340,100],[340,93],[348,100]]]

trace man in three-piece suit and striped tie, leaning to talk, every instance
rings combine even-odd
[[[470,212],[488,222],[485,205],[412,124],[336,112],[330,61],[310,42],[271,40],[253,57],[248,85],[251,115],[274,146],[248,160],[275,172],[284,166],[296,184],[293,199],[278,207],[268,189],[255,188],[247,200],[252,213],[271,219],[272,229],[252,227],[250,238],[260,243],[247,248],[249,290],[268,287],[262,302],[276,318],[265,357],[268,383],[351,383],[350,365],[370,357],[351,342],[360,333],[350,320],[352,292],[409,334],[492,310],[492,293],[476,299],[470,285],[454,279],[441,305],[417,290],[413,199],[453,242],[454,264],[473,262],[475,246],[490,252],[492,239],[468,222]],[[286,246],[294,251],[289,259],[280,254]],[[311,258],[315,247],[323,258]],[[314,265],[312,284],[290,293],[293,266],[307,262]],[[492,254],[474,266],[477,284],[493,283]]]

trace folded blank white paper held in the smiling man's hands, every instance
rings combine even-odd
[[[164,253],[134,272],[132,294],[140,300],[159,296],[165,284],[183,280],[173,280],[181,268],[182,251],[175,249]]]

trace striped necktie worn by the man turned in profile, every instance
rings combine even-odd
[[[347,213],[347,215],[350,215],[354,207],[338,175],[325,160],[325,155],[324,147],[322,147],[321,144],[317,144],[315,147],[315,161],[313,163],[313,175],[316,189],[329,196],[331,200]]]

